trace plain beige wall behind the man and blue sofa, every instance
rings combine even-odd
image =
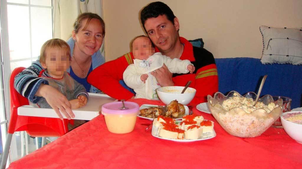
[[[140,10],[151,0],[104,0],[106,61],[130,51],[130,41],[144,34]],[[262,54],[260,25],[302,27],[301,0],[162,0],[180,22],[179,34],[203,38],[215,58]]]

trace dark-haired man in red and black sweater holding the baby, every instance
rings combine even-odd
[[[195,66],[193,74],[173,74],[164,65],[151,72],[161,86],[185,86],[191,80],[190,87],[195,88],[196,95],[191,104],[207,102],[207,95],[218,91],[218,76],[213,55],[203,49],[193,47],[185,38],[179,37],[179,22],[172,10],[162,2],[147,5],[140,13],[142,25],[156,46],[156,52],[181,60],[188,59]],[[88,76],[88,83],[116,99],[130,99],[133,93],[122,87],[119,80],[123,72],[133,63],[132,53],[104,63]]]

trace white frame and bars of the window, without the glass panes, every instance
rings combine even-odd
[[[9,51],[9,37],[8,37],[8,13],[7,13],[7,6],[8,5],[17,5],[17,6],[26,6],[29,7],[29,30],[30,30],[30,58],[22,58],[22,59],[14,59],[10,60],[10,51]],[[0,125],[1,125],[1,136],[2,137],[2,147],[4,149],[5,143],[6,143],[6,134],[7,134],[7,128],[8,128],[8,122],[10,120],[10,96],[9,96],[9,77],[11,75],[11,63],[18,62],[22,60],[31,60],[33,62],[34,60],[37,60],[37,56],[33,56],[33,49],[32,49],[32,29],[31,29],[31,7],[37,7],[37,8],[50,8],[51,9],[51,18],[52,18],[52,37],[54,33],[54,16],[53,16],[53,6],[54,1],[51,0],[51,6],[43,6],[43,5],[31,5],[30,0],[28,0],[28,4],[18,4],[18,3],[12,3],[7,2],[7,0],[1,0],[0,1],[0,83],[2,84],[2,87],[4,91],[1,91],[0,99],[4,101],[3,105],[3,112],[0,109]],[[0,106],[1,108],[1,106]],[[14,137],[13,137],[14,139]],[[12,159],[15,159],[15,157],[12,157],[12,153],[17,150],[16,143],[14,140],[11,142],[11,149],[9,153],[9,160],[6,166],[8,166],[11,163]],[[14,152],[14,156],[17,156],[17,152]]]

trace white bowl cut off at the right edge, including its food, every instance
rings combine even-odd
[[[284,112],[280,118],[286,133],[302,144],[302,112]]]

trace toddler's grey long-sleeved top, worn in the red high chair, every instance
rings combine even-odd
[[[66,96],[67,100],[76,99],[80,95],[84,95],[88,99],[88,93],[85,87],[74,80],[67,72],[64,72],[63,78],[61,79],[52,78],[46,71],[41,72],[39,77],[47,80],[49,85],[60,91],[64,96]],[[29,104],[34,107],[52,108],[44,97],[42,97],[36,104],[32,102],[29,102]]]

